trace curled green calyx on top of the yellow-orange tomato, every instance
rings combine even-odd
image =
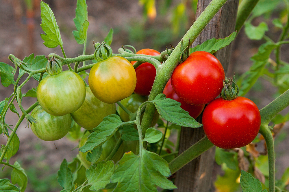
[[[102,61],[112,56],[112,48],[105,44],[104,41],[102,43],[95,43],[93,46],[95,47],[93,54],[95,60]]]

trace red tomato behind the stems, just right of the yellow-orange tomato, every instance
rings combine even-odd
[[[144,55],[159,55],[160,52],[153,49],[142,49],[136,52],[136,54]],[[134,64],[135,62],[131,62]],[[136,88],[134,93],[147,96],[151,92],[153,82],[155,81],[156,70],[150,63],[143,63],[136,68]]]

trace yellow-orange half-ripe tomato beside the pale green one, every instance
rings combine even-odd
[[[134,92],[136,71],[127,59],[113,56],[95,63],[88,83],[96,98],[105,103],[115,103]]]

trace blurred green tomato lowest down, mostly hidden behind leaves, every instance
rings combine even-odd
[[[85,142],[88,140],[87,137],[89,135],[90,135],[89,132],[86,132],[86,134],[84,134],[84,136],[81,138],[81,140],[79,142],[79,145],[78,145],[79,148],[85,144]],[[112,136],[109,140],[107,140],[105,143],[103,143],[102,153],[101,153],[101,156],[99,157],[99,159],[97,160],[97,162],[104,161],[108,157],[108,155],[110,155],[110,153],[114,149],[115,145],[116,145],[116,139],[114,138],[114,136]],[[85,164],[84,166],[86,168],[88,168],[91,165],[91,162],[86,159],[87,153],[88,153],[88,151],[85,153],[82,153],[81,151],[79,151],[79,157],[81,158],[81,160]],[[114,155],[112,160],[116,163],[117,161],[119,161],[121,159],[122,156],[123,156],[123,144],[121,144],[121,146],[119,147],[118,151],[116,152],[116,154]]]

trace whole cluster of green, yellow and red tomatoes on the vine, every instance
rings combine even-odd
[[[143,49],[137,54],[159,55],[160,52]],[[50,66],[58,64],[54,59],[49,63]],[[151,91],[156,69],[147,62],[136,69],[133,64],[120,56],[97,62],[89,74],[89,87],[73,71],[47,70],[49,76],[42,79],[37,88],[40,106],[31,114],[38,120],[32,124],[34,134],[47,141],[60,139],[69,131],[71,117],[81,127],[92,130],[103,117],[116,113],[118,101],[135,112],[147,100],[144,96]],[[181,102],[181,108],[195,119],[208,104],[202,123],[209,140],[224,149],[243,147],[257,136],[260,112],[244,97],[215,99],[221,93],[223,79],[225,73],[218,59],[208,52],[197,51],[175,68],[163,93]],[[123,121],[129,121],[122,109],[118,112]],[[158,116],[155,114],[156,121]]]

